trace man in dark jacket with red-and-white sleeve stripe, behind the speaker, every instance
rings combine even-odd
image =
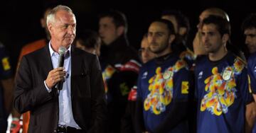
[[[137,81],[139,57],[127,40],[127,18],[120,11],[100,14],[100,64],[107,93],[108,132],[119,133],[128,94]]]

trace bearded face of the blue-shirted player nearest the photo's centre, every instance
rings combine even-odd
[[[148,30],[148,41],[151,52],[161,54],[169,45],[169,30],[167,25],[161,22],[151,23]]]

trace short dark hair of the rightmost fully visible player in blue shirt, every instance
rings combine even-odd
[[[231,34],[231,26],[230,23],[223,17],[221,16],[213,16],[210,15],[207,18],[203,20],[203,25],[208,25],[210,23],[213,23],[216,25],[218,32],[220,33],[221,36],[224,34]]]

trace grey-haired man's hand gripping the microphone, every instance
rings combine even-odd
[[[59,81],[64,81],[64,76],[66,75],[66,73],[67,71],[64,71],[64,67],[58,67],[51,70],[46,79],[46,86],[51,89]]]

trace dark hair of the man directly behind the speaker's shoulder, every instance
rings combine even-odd
[[[80,41],[80,44],[87,48],[97,47],[97,40],[100,36],[93,30],[84,30],[78,34],[77,40]]]

